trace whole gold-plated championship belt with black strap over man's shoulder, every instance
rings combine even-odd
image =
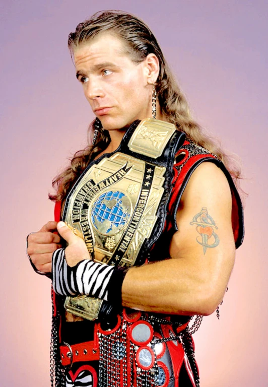
[[[66,198],[62,220],[84,239],[95,262],[145,262],[164,228],[174,156],[184,137],[169,122],[136,120],[115,152],[84,170]],[[66,297],[64,307],[94,320],[102,302],[81,295]]]

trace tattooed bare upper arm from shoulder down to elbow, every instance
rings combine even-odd
[[[213,163],[200,164],[181,198],[170,256],[189,262],[193,275],[219,293],[224,292],[234,265],[231,212],[231,190],[224,173]]]

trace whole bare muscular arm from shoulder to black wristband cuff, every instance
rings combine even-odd
[[[207,249],[196,240],[206,244],[198,233],[204,230],[191,224],[203,207],[215,221],[217,228],[212,229],[219,238],[205,229],[207,243],[216,244]],[[231,208],[231,191],[224,173],[213,163],[199,165],[177,212],[178,231],[170,243],[171,259],[131,268],[123,281],[123,306],[160,313],[211,314],[224,296],[234,265]]]

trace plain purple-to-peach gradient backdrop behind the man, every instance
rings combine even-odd
[[[50,383],[50,281],[31,269],[25,238],[53,219],[51,180],[86,145],[93,118],[68,35],[98,10],[122,9],[152,28],[196,119],[241,157],[246,177],[246,236],[220,320],[205,317],[194,335],[201,386],[266,386],[266,0],[9,0],[1,7],[0,385]]]

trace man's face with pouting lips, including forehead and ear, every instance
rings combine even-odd
[[[74,60],[85,96],[105,129],[152,116],[146,60],[133,62],[123,53],[121,40],[108,33],[97,36],[75,48]]]

